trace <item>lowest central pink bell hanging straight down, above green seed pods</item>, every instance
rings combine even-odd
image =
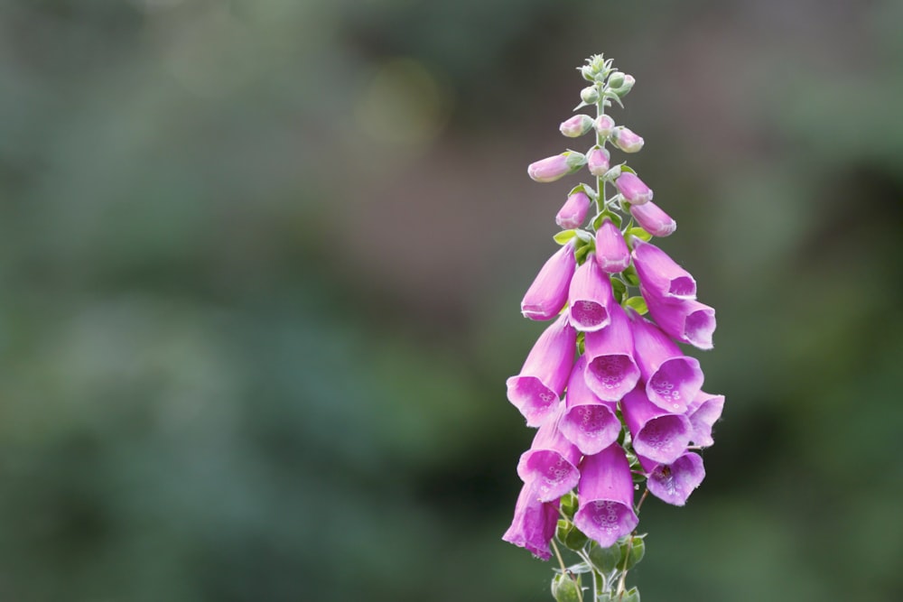
[[[574,525],[603,548],[637,527],[633,477],[624,449],[617,443],[583,457],[577,498],[580,508],[573,515]]]

